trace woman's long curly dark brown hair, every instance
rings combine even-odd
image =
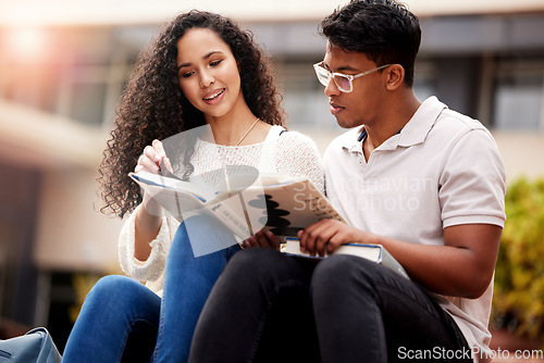
[[[159,36],[144,50],[128,79],[116,110],[114,128],[103,151],[99,167],[99,193],[102,213],[123,217],[141,202],[141,192],[127,174],[137,163],[144,148],[153,139],[164,139],[205,125],[201,111],[184,97],[177,78],[177,40],[190,28],[209,28],[227,43],[236,59],[242,91],[251,112],[271,125],[283,125],[282,100],[271,73],[270,60],[254,41],[249,30],[242,30],[222,15],[193,10],[166,24]],[[193,172],[190,157],[195,145],[177,150],[178,161]]]

